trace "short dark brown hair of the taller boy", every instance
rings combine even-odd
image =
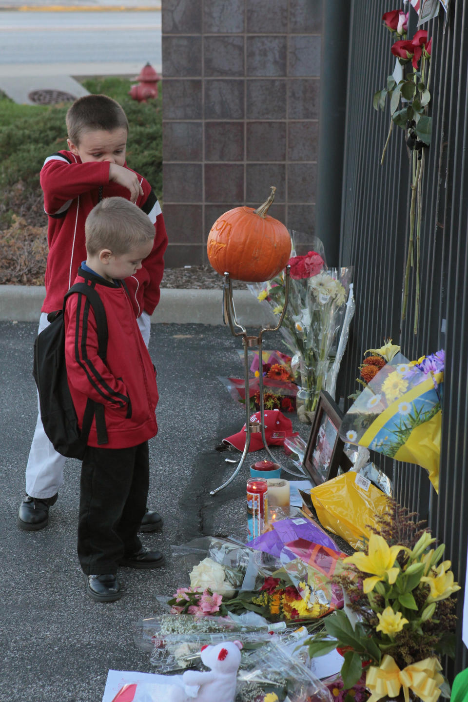
[[[107,95],[84,95],[75,100],[67,112],[67,131],[69,140],[79,146],[83,132],[95,129],[113,131],[126,129],[128,120],[119,102]]]

